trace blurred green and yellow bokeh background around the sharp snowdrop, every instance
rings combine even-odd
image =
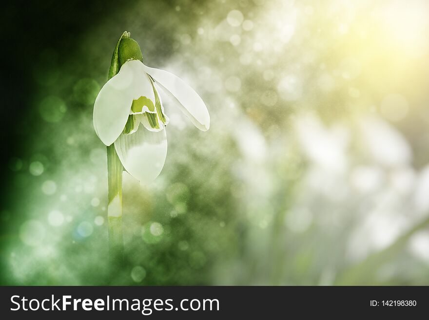
[[[428,1],[117,2],[5,10],[1,284],[429,284]],[[125,30],[212,120],[163,96],[112,270],[92,112]]]

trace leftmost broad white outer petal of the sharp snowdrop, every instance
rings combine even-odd
[[[106,146],[110,146],[124,129],[134,99],[146,96],[155,105],[152,84],[142,68],[141,61],[124,63],[119,73],[98,93],[94,103],[94,129]]]

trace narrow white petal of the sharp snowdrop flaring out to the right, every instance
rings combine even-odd
[[[174,100],[192,123],[199,130],[207,131],[210,127],[210,115],[201,97],[185,81],[170,72],[150,68],[143,64],[146,73],[154,78]]]

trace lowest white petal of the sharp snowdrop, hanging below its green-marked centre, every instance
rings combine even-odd
[[[117,155],[124,166],[140,184],[155,180],[164,166],[167,156],[165,130],[152,132],[143,126],[133,134],[121,134],[115,141]]]

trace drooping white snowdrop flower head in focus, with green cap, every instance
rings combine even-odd
[[[119,72],[98,93],[94,129],[106,146],[114,143],[124,169],[141,184],[149,184],[164,166],[169,122],[155,83],[201,131],[209,130],[210,115],[201,97],[182,79],[144,65],[140,47],[129,34],[124,33],[116,50]]]

